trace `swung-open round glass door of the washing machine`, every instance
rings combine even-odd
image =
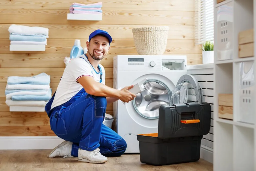
[[[202,104],[203,93],[196,78],[193,75],[186,74],[180,77],[173,91],[170,105],[191,102]]]

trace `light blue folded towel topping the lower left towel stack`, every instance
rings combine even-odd
[[[7,78],[7,84],[50,84],[50,76],[46,73],[40,73],[31,77],[21,77],[21,76],[9,76]]]

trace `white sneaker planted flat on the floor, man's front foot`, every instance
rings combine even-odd
[[[100,149],[97,148],[93,151],[87,151],[78,149],[78,161],[88,163],[106,163],[108,158],[100,153]]]

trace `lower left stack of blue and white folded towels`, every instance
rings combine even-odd
[[[46,73],[31,77],[9,76],[5,96],[8,106],[45,107],[52,96],[50,76]]]

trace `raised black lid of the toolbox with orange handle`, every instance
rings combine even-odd
[[[209,103],[181,103],[159,108],[158,138],[207,135],[211,124]]]

